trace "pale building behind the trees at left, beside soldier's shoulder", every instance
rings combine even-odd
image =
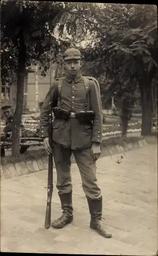
[[[53,64],[51,67],[51,80],[56,79],[57,65]],[[8,83],[1,85],[1,105],[11,104],[12,108],[16,106],[16,79],[11,86]],[[50,69],[46,77],[41,76],[41,71],[32,66],[29,71],[26,71],[24,82],[24,110],[36,110],[37,101],[42,101],[46,97],[50,88]],[[36,103],[37,102],[37,103]]]

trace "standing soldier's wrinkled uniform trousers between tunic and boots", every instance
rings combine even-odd
[[[96,163],[91,154],[91,148],[71,150],[54,143],[53,156],[57,172],[59,194],[67,194],[73,190],[71,179],[71,155],[74,154],[82,180],[82,187],[87,198],[100,199],[101,190],[96,178]]]

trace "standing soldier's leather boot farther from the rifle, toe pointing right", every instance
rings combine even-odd
[[[102,197],[100,199],[87,198],[89,212],[91,214],[90,228],[95,229],[102,237],[111,238],[102,223]]]

